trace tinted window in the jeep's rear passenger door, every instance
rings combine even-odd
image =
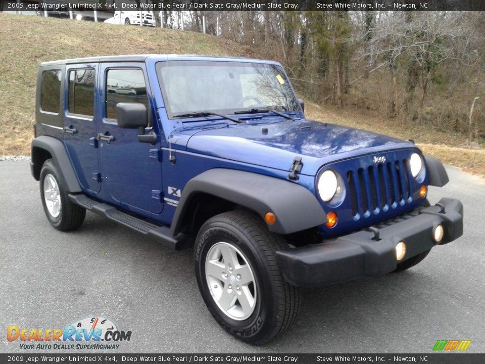
[[[94,115],[94,69],[69,71],[68,110],[71,114]]]

